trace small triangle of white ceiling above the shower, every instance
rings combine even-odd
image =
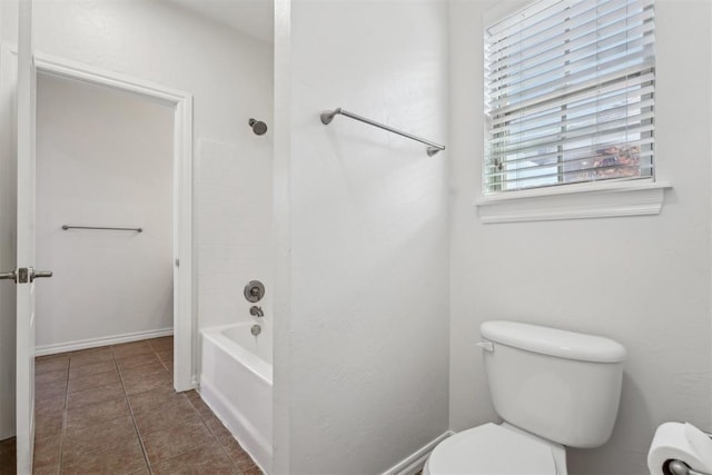
[[[274,42],[274,0],[172,0],[218,23]]]

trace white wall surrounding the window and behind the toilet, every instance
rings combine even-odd
[[[451,427],[495,419],[474,346],[510,318],[606,335],[629,350],[611,441],[570,451],[574,474],[644,474],[655,427],[710,429],[710,2],[659,0],[653,217],[483,225],[482,16],[451,4]]]

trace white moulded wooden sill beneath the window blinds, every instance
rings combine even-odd
[[[616,181],[512,191],[475,201],[485,224],[659,215],[662,181]]]

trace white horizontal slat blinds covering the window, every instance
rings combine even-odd
[[[485,31],[487,194],[653,176],[653,0],[541,0]]]

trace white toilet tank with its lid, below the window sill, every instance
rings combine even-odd
[[[492,403],[505,422],[570,447],[597,447],[611,437],[621,344],[515,321],[486,321],[479,331]]]

